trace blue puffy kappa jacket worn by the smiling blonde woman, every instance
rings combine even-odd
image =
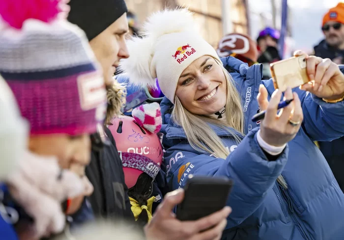
[[[229,147],[226,160],[193,149],[184,131],[171,119],[172,103],[164,99],[164,147],[167,181],[172,190],[183,187],[188,174],[227,176],[234,180],[228,205],[224,239],[228,240],[339,240],[344,239],[344,194],[326,160],[313,141],[331,141],[344,135],[344,102],[326,103],[297,89],[304,120],[294,140],[276,161],[267,161],[256,139],[258,87],[264,84],[269,97],[272,80],[261,81],[261,65],[228,57],[224,66],[236,82],[242,98],[246,137],[236,144],[227,132],[213,127]],[[277,184],[282,174],[288,189]]]

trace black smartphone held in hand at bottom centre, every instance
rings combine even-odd
[[[193,221],[220,211],[226,206],[232,186],[228,178],[189,175],[184,200],[177,206],[177,219]]]

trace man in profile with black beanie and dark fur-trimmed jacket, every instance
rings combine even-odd
[[[113,81],[113,74],[119,60],[129,57],[125,45],[128,32],[126,4],[123,0],[72,0],[69,5],[68,20],[86,32],[103,68],[108,99],[112,99],[107,108],[106,123],[109,123],[114,115],[119,114],[119,98],[123,95],[119,84]],[[99,141],[102,142],[101,147],[97,147],[97,138],[92,138],[91,162],[86,175],[94,186],[94,193],[90,196],[93,211],[95,215],[106,218],[134,219],[114,138],[106,126],[98,127],[98,131],[98,136],[107,136],[108,141]]]

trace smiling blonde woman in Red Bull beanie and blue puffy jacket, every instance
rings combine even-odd
[[[183,188],[190,174],[233,179],[223,239],[341,239],[344,194],[313,141],[344,135],[344,74],[307,56],[314,84],[275,91],[272,80],[261,81],[261,65],[220,60],[195,29],[187,10],[156,13],[121,64],[136,84],[157,77],[166,96],[170,187]],[[278,114],[283,98],[294,100]],[[252,122],[259,108],[265,118]]]

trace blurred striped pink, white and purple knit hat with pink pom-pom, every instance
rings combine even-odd
[[[85,33],[58,18],[60,1],[0,1],[0,74],[31,134],[93,133],[105,118],[102,72]]]

